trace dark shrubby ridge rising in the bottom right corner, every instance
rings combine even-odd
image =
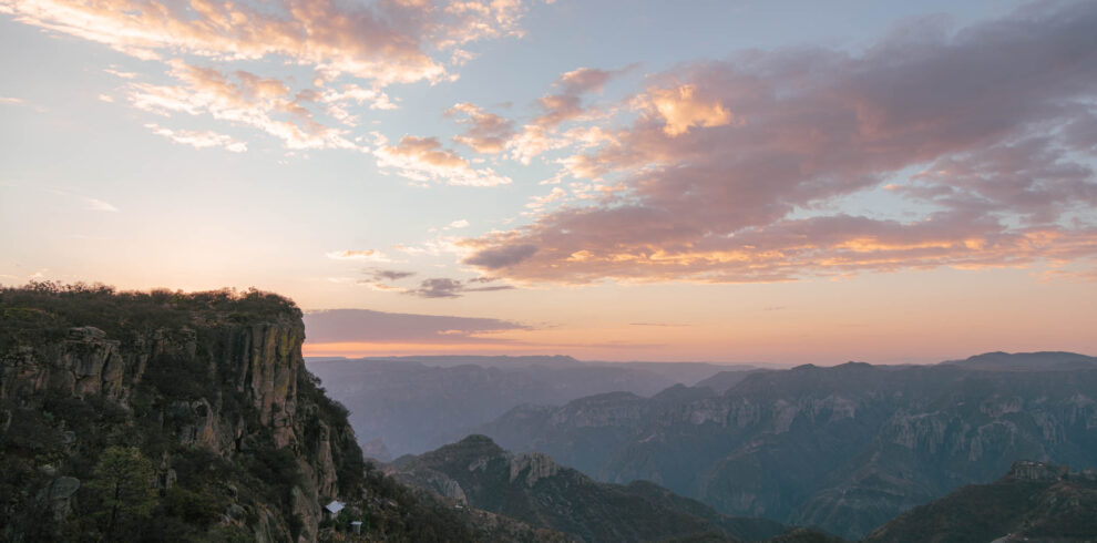
[[[915,508],[865,543],[1097,540],[1097,474],[1019,461],[1002,479]]]

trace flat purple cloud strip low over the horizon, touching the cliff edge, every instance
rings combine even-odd
[[[530,327],[510,320],[369,309],[328,309],[305,314],[305,330],[310,344],[488,341],[492,338],[483,335],[527,329]]]

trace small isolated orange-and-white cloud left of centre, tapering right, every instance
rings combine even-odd
[[[442,148],[437,137],[403,136],[400,143],[375,134],[373,150],[378,167],[392,168],[397,174],[420,183],[435,182],[459,186],[498,186],[511,183],[489,167],[474,168],[457,153]]]

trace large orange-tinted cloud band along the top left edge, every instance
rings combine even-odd
[[[139,59],[185,53],[215,60],[278,58],[378,84],[439,81],[431,57],[485,38],[520,34],[521,2],[283,0],[194,1],[187,10],[147,0],[3,0],[16,20],[103,43]]]

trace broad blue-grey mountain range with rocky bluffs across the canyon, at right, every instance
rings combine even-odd
[[[603,481],[855,539],[1018,459],[1097,465],[1094,390],[1094,369],[851,362],[753,373],[719,397],[525,406],[479,431]]]

